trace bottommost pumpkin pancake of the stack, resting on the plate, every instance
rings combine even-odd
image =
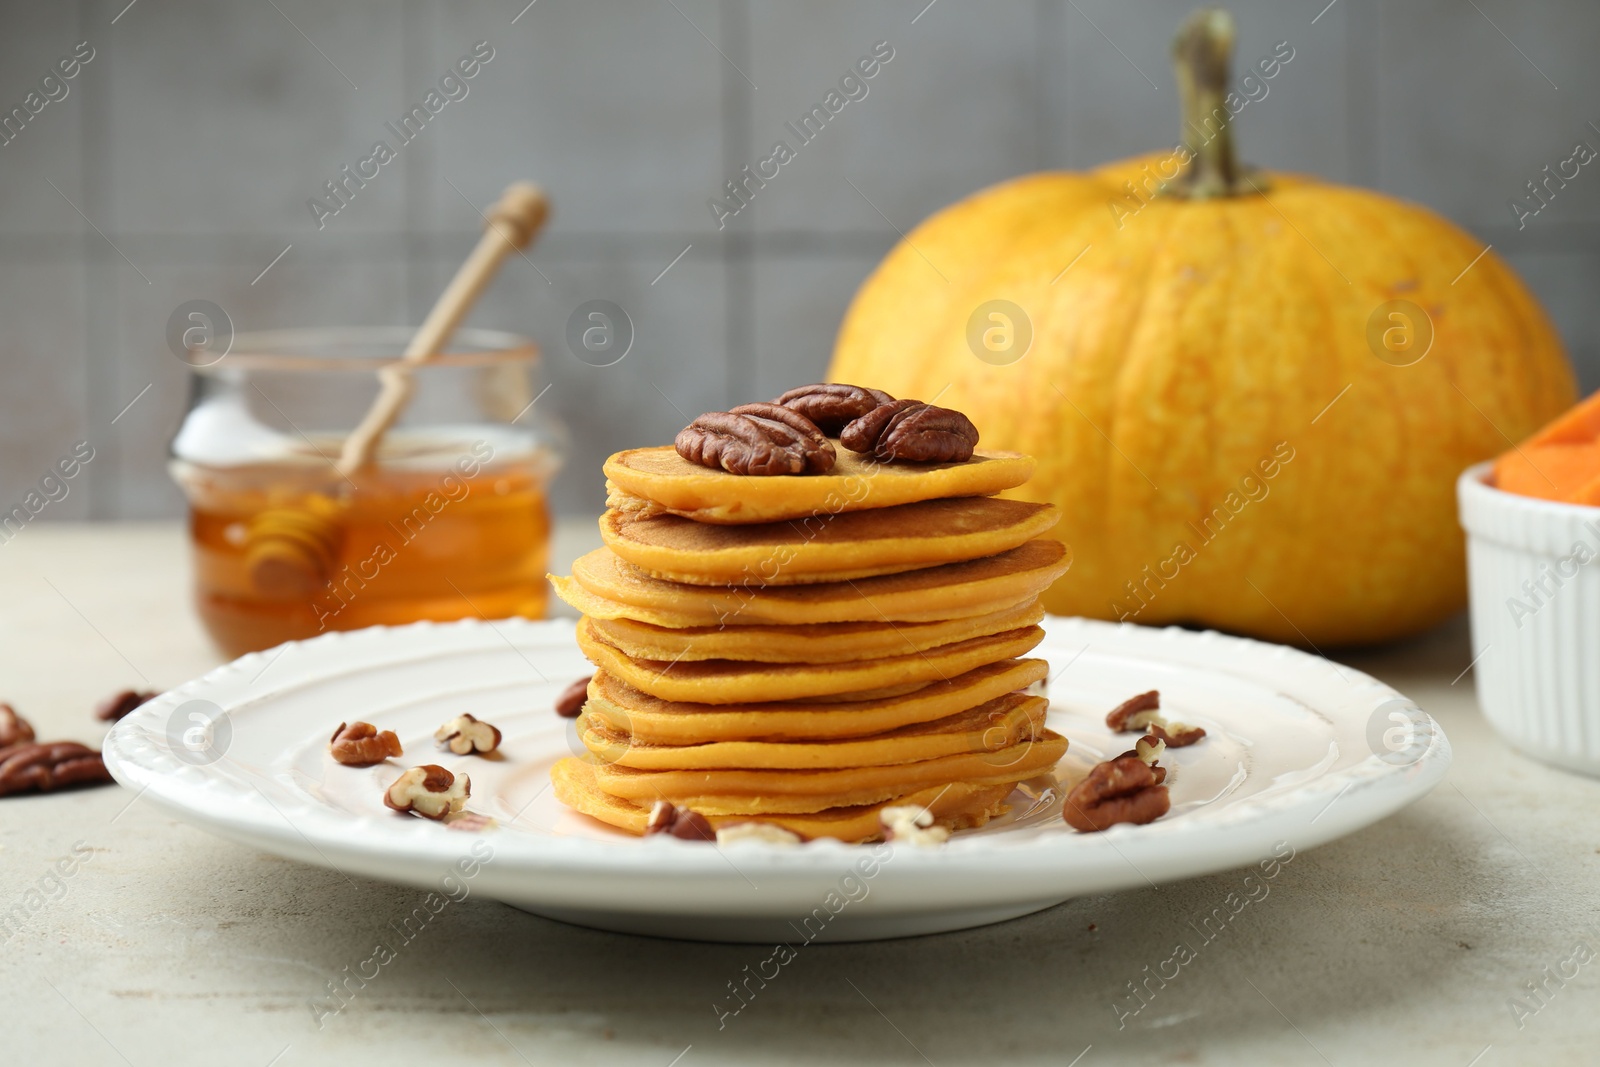
[[[594,765],[568,757],[557,761],[550,769],[555,782],[555,798],[568,808],[584,813],[608,825],[629,833],[643,833],[650,819],[650,805],[635,805],[613,797],[595,785]],[[966,782],[950,782],[938,789],[922,789],[915,793],[896,797],[882,805],[858,808],[834,808],[813,814],[779,814],[763,817],[762,822],[781,825],[803,838],[832,837],[848,845],[877,841],[883,837],[883,825],[878,822],[878,811],[890,805],[917,805],[933,813],[938,825],[947,830],[966,830],[979,827],[995,816],[1005,814],[1010,806],[1005,798],[1013,785],[970,785]],[[710,816],[714,827],[746,822],[746,816]]]

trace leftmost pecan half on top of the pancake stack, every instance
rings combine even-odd
[[[678,454],[728,474],[826,474],[834,445],[816,422],[776,403],[709,411],[678,430]]]

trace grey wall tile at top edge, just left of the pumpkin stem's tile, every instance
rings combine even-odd
[[[909,230],[950,200],[1030,166],[1034,5],[939,3],[912,26],[915,14],[902,3],[752,5],[750,67],[760,91],[750,94],[738,165],[766,158],[776,141],[795,158],[728,229]],[[866,96],[816,134],[802,130],[802,117],[877,42],[893,58],[862,82]]]

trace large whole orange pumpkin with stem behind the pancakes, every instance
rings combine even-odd
[[[1038,458],[1062,614],[1302,645],[1466,603],[1454,478],[1573,403],[1549,320],[1416,205],[1237,165],[1232,21],[1174,43],[1187,142],[946,208],[856,294],[829,371]]]

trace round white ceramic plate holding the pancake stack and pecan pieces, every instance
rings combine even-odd
[[[1104,713],[1162,691],[1210,731],[1168,753],[1173,809],[1150,825],[1075,833],[1061,797],[1029,801],[938,848],[718,848],[632,838],[562,806],[550,765],[576,747],[555,696],[589,664],[566,621],[376,627],[245,656],[178,686],[106,739],[123,785],[235,841],[442,896],[482,893],[558,920],[709,941],[861,941],[994,923],[1090,893],[1158,885],[1306,849],[1422,797],[1450,744],[1379,681],[1290,648],[1083,619],[1048,619],[1050,725],[1072,741],[1061,776],[1131,747]],[[434,729],[461,712],[506,734],[501,760],[454,757]],[[394,729],[405,757],[346,768],[341,721]],[[472,777],[456,832],[382,806],[398,765]],[[475,851],[474,851],[475,849]]]

